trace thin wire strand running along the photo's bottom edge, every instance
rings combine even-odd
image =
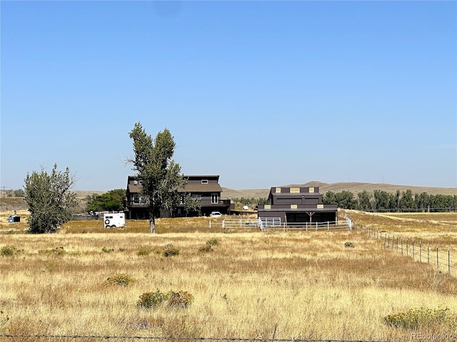
[[[307,338],[239,338],[239,337],[173,337],[173,336],[102,336],[102,335],[21,335],[21,334],[0,334],[0,338],[20,338],[21,341],[30,338],[48,338],[51,340],[60,339],[86,339],[94,340],[161,340],[161,341],[252,341],[252,342],[392,342],[392,341],[366,341],[366,340],[341,340],[341,339],[307,339]],[[3,341],[3,340],[2,340]]]

